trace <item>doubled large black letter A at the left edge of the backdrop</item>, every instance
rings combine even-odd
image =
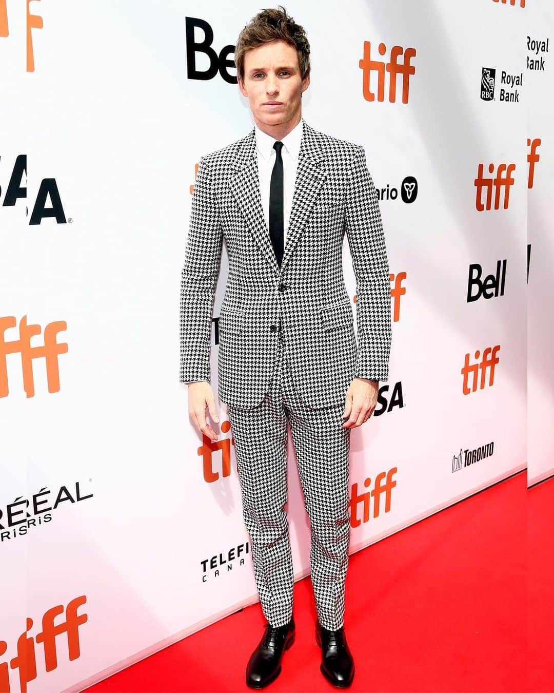
[[[1,159],[0,155],[0,166],[2,164]],[[27,202],[25,216],[29,217],[29,226],[40,225],[43,219],[55,219],[57,224],[71,224],[73,221],[65,216],[62,198],[55,178],[43,178],[39,184],[35,200],[28,200],[26,154],[19,154],[15,158],[8,177],[8,183],[4,186],[4,189],[0,184],[0,200],[2,207],[15,207],[18,200],[25,200]],[[29,207],[32,207],[30,216]]]

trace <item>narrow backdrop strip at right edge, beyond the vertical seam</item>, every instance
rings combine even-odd
[[[547,9],[548,8],[548,9]],[[554,474],[554,6],[539,3],[528,13],[528,60],[545,70],[528,71],[528,484]],[[548,52],[533,38],[550,36]],[[539,64],[540,67],[540,64]]]

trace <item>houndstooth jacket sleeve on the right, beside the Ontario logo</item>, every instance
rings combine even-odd
[[[358,352],[355,376],[388,380],[391,351],[391,283],[373,179],[366,153],[357,145],[346,192],[346,235],[356,276]]]

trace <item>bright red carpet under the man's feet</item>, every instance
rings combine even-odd
[[[554,480],[528,492],[521,472],[350,556],[348,690],[553,691],[553,501]],[[265,690],[339,690],[319,671],[310,577],[294,598],[296,641]],[[251,691],[264,622],[249,606],[87,691]]]

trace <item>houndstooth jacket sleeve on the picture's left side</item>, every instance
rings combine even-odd
[[[215,288],[223,234],[211,171],[200,157],[193,188],[179,306],[179,382],[210,380]]]

